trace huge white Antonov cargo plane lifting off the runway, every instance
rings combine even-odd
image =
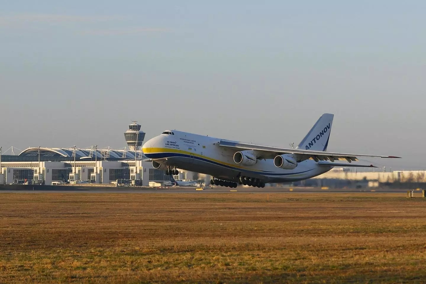
[[[213,138],[176,130],[164,131],[147,141],[142,150],[155,169],[167,175],[178,169],[211,175],[210,184],[265,187],[265,183],[300,181],[321,175],[334,166],[358,158],[399,158],[327,152],[334,115],[323,114],[296,149],[262,146]],[[347,161],[339,163],[336,161]]]

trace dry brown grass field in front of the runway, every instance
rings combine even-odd
[[[424,283],[403,193],[1,193],[0,283]]]

